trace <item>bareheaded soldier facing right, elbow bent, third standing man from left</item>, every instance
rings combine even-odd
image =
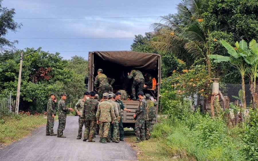
[[[84,92],[83,94],[83,99],[80,99],[74,106],[75,112],[77,113],[77,115],[79,115],[79,129],[78,129],[78,137],[77,139],[81,139],[81,133],[82,133],[82,128],[83,128],[83,124],[84,124],[84,118],[82,116],[83,114],[83,107],[84,107],[84,103],[85,100],[89,99],[89,92]]]

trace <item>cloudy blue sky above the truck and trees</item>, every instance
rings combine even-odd
[[[18,40],[17,49],[42,47],[63,59],[88,59],[89,51],[130,50],[134,35],[153,31],[150,25],[176,13],[180,1],[3,0],[2,7],[15,8],[14,19],[23,25],[5,37]]]

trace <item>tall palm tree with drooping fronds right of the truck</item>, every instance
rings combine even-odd
[[[159,50],[174,53],[188,64],[197,59],[206,61],[210,73],[210,45],[208,31],[202,29],[202,14],[208,10],[209,0],[185,0],[177,6],[180,23],[171,17],[161,17],[160,23],[151,26],[157,32],[157,41],[152,45]]]

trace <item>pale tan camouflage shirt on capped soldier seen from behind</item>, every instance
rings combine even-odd
[[[112,104],[107,100],[99,103],[96,118],[100,122],[111,122],[116,120],[114,111],[112,110]]]

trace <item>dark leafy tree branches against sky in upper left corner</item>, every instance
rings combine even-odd
[[[0,48],[2,48],[3,46],[15,48],[14,44],[18,43],[18,41],[10,41],[4,38],[4,36],[7,35],[9,30],[16,32],[17,29],[21,28],[22,24],[17,23],[13,20],[13,17],[15,15],[15,9],[7,9],[7,7],[2,7],[1,3],[2,0],[0,0]]]

